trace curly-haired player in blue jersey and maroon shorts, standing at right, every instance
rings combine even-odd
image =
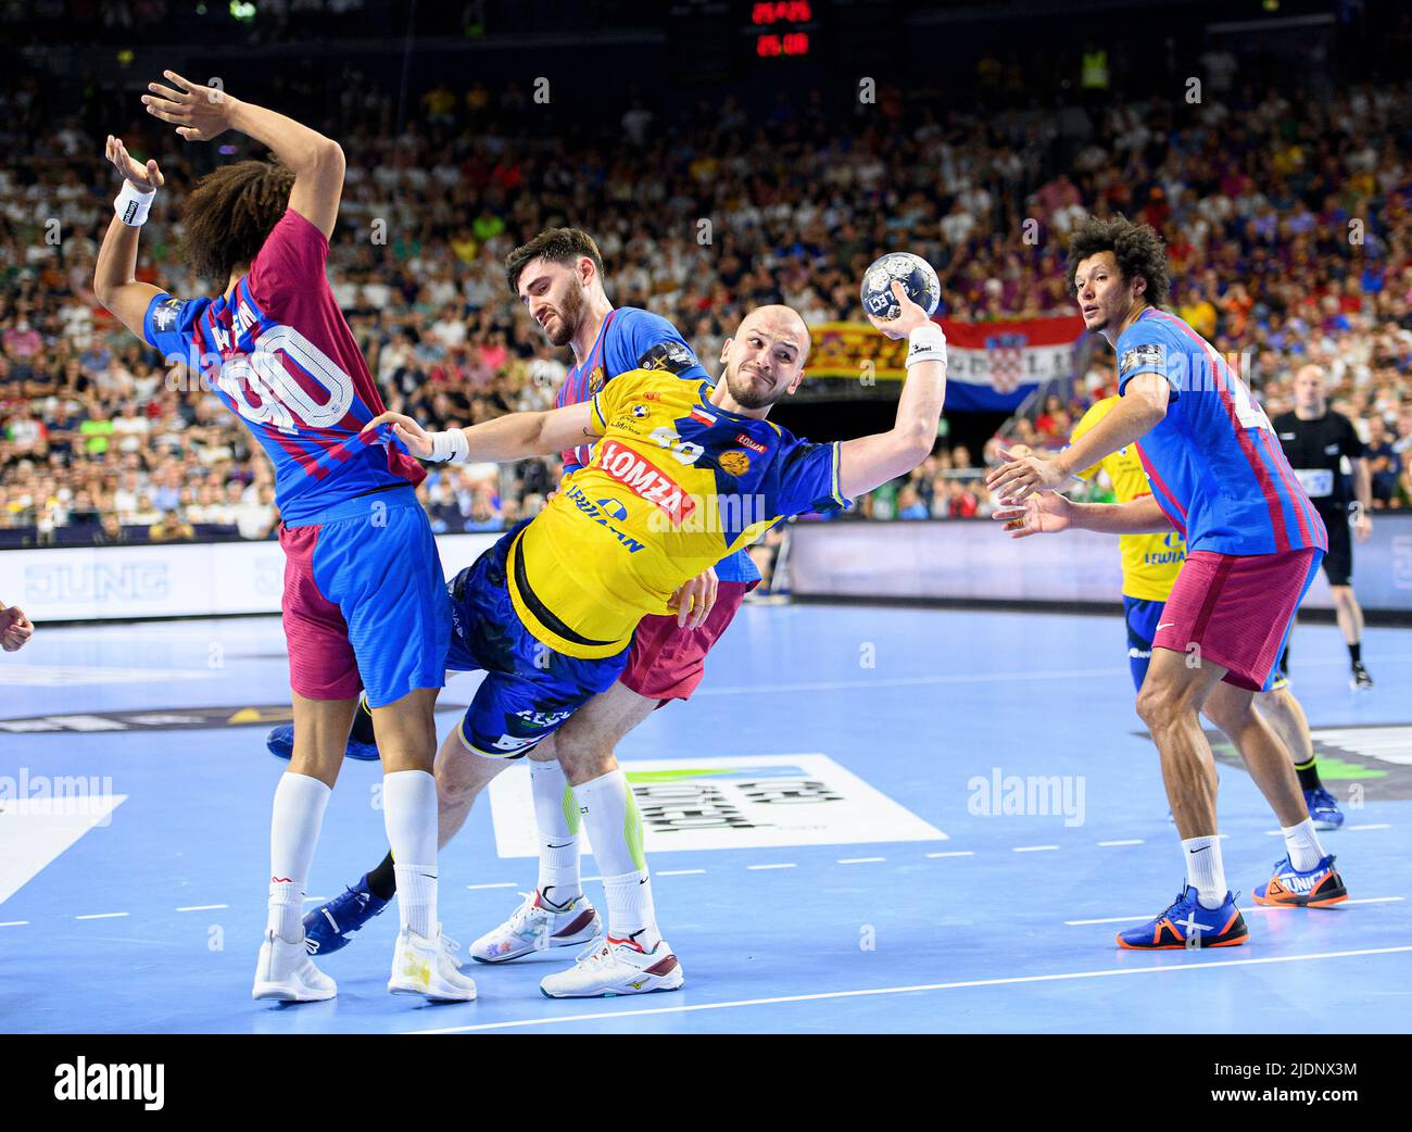
[[[1240,751],[1284,831],[1286,857],[1255,901],[1326,906],[1348,896],[1319,844],[1289,755],[1254,706],[1255,693],[1274,683],[1327,535],[1244,383],[1190,326],[1158,309],[1168,291],[1161,237],[1124,217],[1091,217],[1069,255],[1084,326],[1117,351],[1118,405],[1058,456],[1010,459],[987,481],[1003,502],[995,517],[1015,538],[1069,526],[1110,534],[1175,526],[1186,538],[1186,562],[1137,700],[1161,754],[1186,884],[1166,912],[1117,941],[1228,947],[1248,930],[1226,884],[1203,711]],[[1056,494],[1075,470],[1132,443],[1151,495],[1073,504]]]

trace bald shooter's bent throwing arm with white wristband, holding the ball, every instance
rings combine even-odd
[[[898,316],[884,322],[868,315],[868,320],[888,337],[911,342],[907,381],[888,432],[839,446],[839,490],[846,498],[905,476],[931,456],[946,401],[946,335],[907,296],[902,284],[894,281],[892,294],[902,308]]]

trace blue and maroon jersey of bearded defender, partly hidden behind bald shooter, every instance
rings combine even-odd
[[[614,377],[634,370],[662,370],[683,381],[716,384],[671,322],[651,311],[620,306],[603,319],[589,356],[565,375],[559,408],[592,401]],[[593,445],[579,445],[559,456],[568,476],[592,462]],[[716,577],[720,582],[758,582],[760,570],[750,555],[736,550],[716,563]]]

